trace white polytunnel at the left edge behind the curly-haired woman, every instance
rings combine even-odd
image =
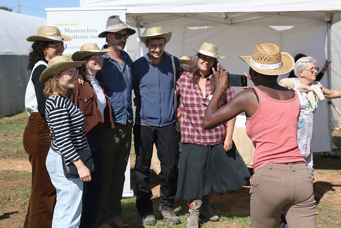
[[[0,117],[25,108],[24,97],[30,71],[28,55],[32,42],[26,38],[37,34],[46,19],[0,10]]]

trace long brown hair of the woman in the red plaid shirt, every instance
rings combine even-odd
[[[191,82],[192,82],[193,86],[195,86],[195,84],[199,82],[199,79],[201,77],[200,69],[199,69],[199,66],[198,66],[198,61],[199,61],[199,58],[200,58],[201,55],[202,54],[198,53],[198,54],[196,54],[195,56],[192,57],[190,68],[187,70],[188,72],[190,72],[192,74]],[[215,58],[214,59],[214,63],[213,63],[213,68],[215,70],[217,70],[217,64],[218,63],[219,63],[218,60]],[[212,70],[211,70],[210,73],[213,74]],[[214,76],[212,76],[210,78],[210,80],[211,80],[211,89],[212,89],[212,92],[214,93],[216,91],[216,89],[217,89],[216,78]],[[224,105],[225,103],[226,103],[226,94],[223,93],[223,95],[220,97],[219,105]]]

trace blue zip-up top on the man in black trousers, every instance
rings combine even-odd
[[[180,61],[174,57],[176,75]],[[174,70],[170,56],[163,54],[157,67],[148,54],[132,64],[133,89],[137,99],[135,121],[156,127],[175,122]]]

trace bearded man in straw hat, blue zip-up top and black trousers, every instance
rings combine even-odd
[[[139,36],[148,53],[133,62],[133,89],[136,96],[136,117],[133,127],[136,152],[136,207],[142,223],[153,225],[153,206],[149,186],[150,161],[153,144],[161,164],[160,203],[158,217],[174,224],[180,219],[174,213],[177,192],[179,144],[175,124],[174,84],[180,72],[180,61],[164,53],[172,32],[161,27],[147,29]]]

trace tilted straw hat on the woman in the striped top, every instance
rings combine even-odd
[[[49,61],[47,68],[40,75],[39,81],[46,82],[55,73],[61,72],[72,67],[79,67],[83,63],[85,63],[85,61],[74,62],[68,55],[54,57]]]

